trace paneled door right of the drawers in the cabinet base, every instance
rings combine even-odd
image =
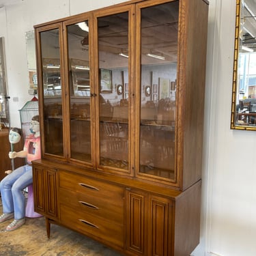
[[[143,190],[126,191],[126,250],[134,255],[171,256],[173,202]]]

